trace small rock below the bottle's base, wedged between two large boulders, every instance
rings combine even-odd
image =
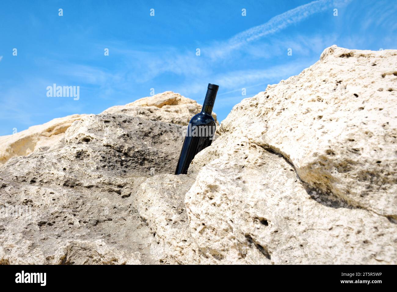
[[[163,174],[145,180],[135,193],[134,205],[154,234],[151,254],[160,263],[200,263],[184,203],[193,183],[187,175]]]

